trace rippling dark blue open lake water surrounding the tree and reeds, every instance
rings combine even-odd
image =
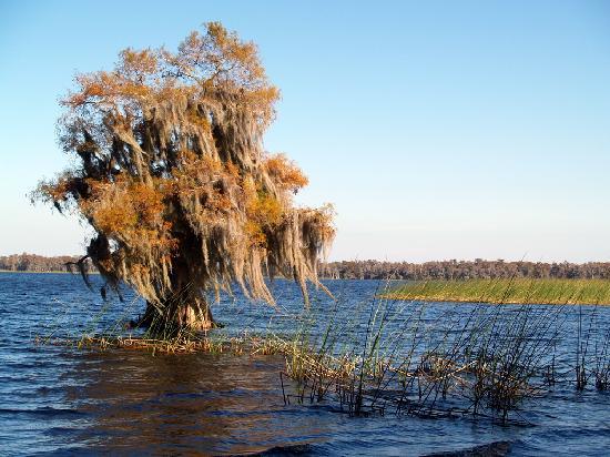
[[[99,288],[100,278],[93,276],[93,282]],[[337,307],[356,315],[378,287],[374,281],[326,285],[338,299],[314,294],[312,315],[325,316]],[[294,329],[303,308],[297,288],[278,281],[274,292],[279,309],[240,295],[223,298],[213,308],[226,325],[220,332]],[[541,398],[527,400],[518,413],[527,426],[466,417],[362,418],[324,403],[286,406],[279,356],[153,355],[34,344],[37,336],[120,332],[121,321],[143,306],[129,291],[124,295],[123,303],[115,297],[104,302],[80,277],[67,274],[0,274],[1,455],[429,455],[485,445],[477,455],[610,453],[610,393],[596,390],[592,383],[583,392],[559,383]],[[429,306],[430,322],[437,309],[449,306],[468,307]],[[594,322],[592,354],[610,328],[610,308],[580,312],[581,323]],[[575,354],[578,313],[566,308],[561,323],[558,368],[566,373]]]

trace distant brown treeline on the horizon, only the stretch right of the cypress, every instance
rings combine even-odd
[[[443,261],[426,263],[344,261],[322,264],[322,277],[358,280],[490,280],[508,277],[532,278],[599,278],[610,280],[610,262],[542,263],[484,261]]]

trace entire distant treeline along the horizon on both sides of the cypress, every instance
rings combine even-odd
[[[45,257],[35,254],[0,256],[0,270],[11,272],[67,272],[69,262],[80,256]],[[89,264],[89,270],[95,268]],[[343,261],[323,263],[319,275],[342,280],[489,280],[496,277],[598,278],[610,280],[610,262],[542,263],[484,261],[441,261],[426,263]]]

